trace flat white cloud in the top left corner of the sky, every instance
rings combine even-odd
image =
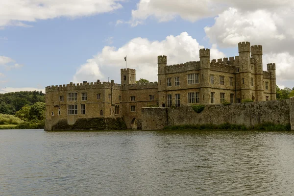
[[[30,26],[24,22],[57,17],[81,17],[122,8],[123,0],[1,0],[0,26]]]

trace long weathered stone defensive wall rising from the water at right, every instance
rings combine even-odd
[[[247,127],[259,123],[291,124],[294,130],[294,98],[231,105],[205,105],[196,113],[192,107],[142,108],[142,129],[161,130],[171,125],[195,124],[244,124]]]

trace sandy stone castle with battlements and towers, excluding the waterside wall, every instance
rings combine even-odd
[[[166,56],[158,56],[154,83],[136,83],[134,69],[121,69],[121,84],[97,80],[48,86],[45,130],[61,120],[74,124],[81,118],[115,117],[122,118],[127,128],[140,128],[143,107],[275,100],[275,64],[263,71],[260,45],[241,42],[238,48],[235,58],[210,60],[210,50],[200,49],[200,61],[170,66]]]

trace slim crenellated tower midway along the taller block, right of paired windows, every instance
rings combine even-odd
[[[201,103],[210,103],[210,83],[209,83],[209,74],[210,74],[210,49],[200,49],[199,50],[200,58],[200,102]]]

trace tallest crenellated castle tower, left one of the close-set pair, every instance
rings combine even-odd
[[[251,94],[251,69],[250,69],[250,42],[240,42],[239,49],[239,66],[240,66],[240,83],[241,99],[252,98]]]

